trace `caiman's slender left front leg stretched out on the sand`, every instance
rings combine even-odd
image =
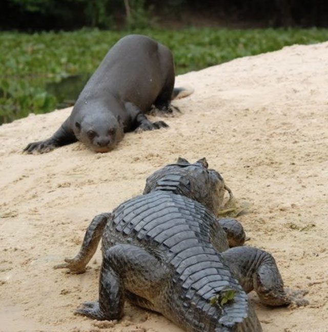
[[[103,236],[106,223],[112,218],[112,214],[103,213],[93,218],[83,239],[80,251],[74,258],[65,258],[63,264],[54,268],[69,268],[71,273],[79,274],[86,271],[86,265],[97,250],[98,243]]]

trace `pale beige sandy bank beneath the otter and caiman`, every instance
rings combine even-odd
[[[0,331],[181,332],[128,303],[118,323],[73,315],[97,298],[99,248],[85,274],[52,269],[75,255],[95,215],[140,194],[147,176],[178,156],[207,157],[251,203],[240,217],[247,244],[274,255],[286,286],[309,291],[300,308],[265,307],[250,294],[264,331],[328,331],[328,43],[239,58],[176,85],[195,92],[174,101],[182,114],[164,119],[170,128],[129,133],[107,154],[80,143],[21,153],[70,109],[0,127]]]

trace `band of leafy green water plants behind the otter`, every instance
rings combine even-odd
[[[45,113],[57,97],[47,85],[91,74],[108,49],[128,31],[79,30],[58,33],[0,33],[0,123]],[[178,74],[217,65],[236,57],[278,50],[285,45],[328,39],[328,29],[134,30],[167,45]]]

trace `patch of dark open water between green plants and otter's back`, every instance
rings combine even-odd
[[[73,106],[91,74],[69,76],[60,82],[47,84],[46,90],[57,100],[57,109]]]

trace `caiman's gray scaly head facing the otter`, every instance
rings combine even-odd
[[[224,184],[222,176],[209,169],[206,158],[190,163],[178,158],[147,178],[144,194],[151,191],[171,191],[198,201],[217,214],[221,209],[224,191],[232,198],[230,189]]]

